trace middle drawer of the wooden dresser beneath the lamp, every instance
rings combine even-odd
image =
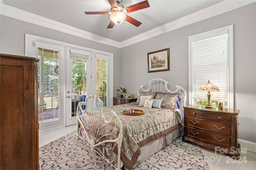
[[[195,117],[187,117],[187,125],[208,131],[231,135],[231,125],[228,123],[207,121]]]

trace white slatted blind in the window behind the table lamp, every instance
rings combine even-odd
[[[228,34],[192,42],[192,96],[207,99],[207,92],[198,89],[210,80],[220,92],[211,92],[211,100],[227,101]]]

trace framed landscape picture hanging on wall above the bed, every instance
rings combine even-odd
[[[148,72],[170,70],[170,49],[162,49],[148,53]]]

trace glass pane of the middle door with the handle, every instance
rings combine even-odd
[[[76,107],[78,102],[83,103],[85,108],[86,98],[86,60],[72,59],[72,109],[71,117],[76,116]]]

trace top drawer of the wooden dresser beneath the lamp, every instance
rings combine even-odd
[[[207,114],[207,113],[201,113],[199,111],[189,110],[187,113],[187,116],[201,117],[204,119],[210,119],[210,120],[215,120],[215,121],[231,122],[231,116],[229,116],[229,115]]]

